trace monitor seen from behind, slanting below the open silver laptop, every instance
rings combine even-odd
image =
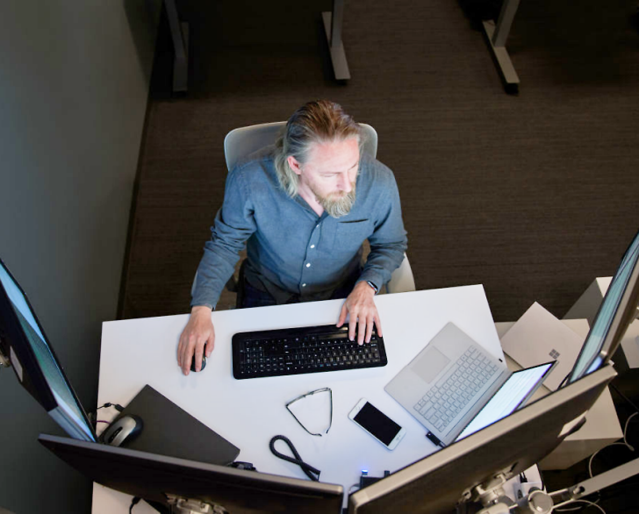
[[[349,514],[449,514],[490,487],[525,471],[578,429],[615,377],[606,365],[493,425],[410,464],[349,498]]]

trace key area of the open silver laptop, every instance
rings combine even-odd
[[[497,370],[477,348],[469,348],[457,360],[454,372],[431,387],[413,409],[438,430],[443,430],[473,399]],[[449,372],[450,373],[450,372]]]

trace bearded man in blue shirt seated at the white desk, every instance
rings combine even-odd
[[[196,369],[220,293],[246,244],[242,307],[346,298],[349,336],[381,333],[374,294],[403,260],[406,231],[392,171],[362,153],[362,135],[337,103],[309,102],[290,117],[275,146],[243,160],[226,180],[224,203],[204,246],[191,315],[180,336],[178,364]],[[371,252],[362,268],[362,243]]]

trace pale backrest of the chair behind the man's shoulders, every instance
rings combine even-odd
[[[231,170],[235,164],[245,155],[249,155],[260,148],[273,144],[280,130],[286,125],[286,121],[275,123],[261,123],[260,125],[243,126],[235,128],[227,133],[224,138],[224,157],[226,167]],[[359,126],[364,132],[363,151],[372,157],[377,155],[377,132],[366,123]]]

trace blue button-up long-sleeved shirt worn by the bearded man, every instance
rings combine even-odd
[[[406,231],[392,171],[362,155],[356,199],[350,213],[318,216],[297,195],[282,190],[265,147],[238,163],[227,176],[222,208],[211,227],[197,268],[191,305],[215,307],[246,247],[247,281],[277,303],[328,299],[354,273],[378,288],[404,258]],[[362,243],[371,253],[361,268]]]

